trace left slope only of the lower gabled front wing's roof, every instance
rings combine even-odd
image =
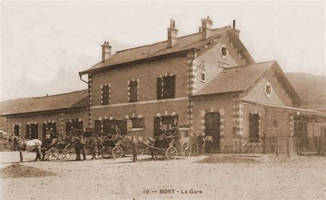
[[[221,73],[209,80],[202,88],[195,91],[193,96],[246,91],[252,82],[273,63],[276,63],[276,61],[223,69]]]

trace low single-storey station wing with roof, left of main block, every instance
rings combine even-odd
[[[28,98],[1,115],[6,118],[9,135],[42,140],[51,128],[66,135],[87,127],[88,91]]]

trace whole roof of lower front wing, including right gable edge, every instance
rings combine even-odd
[[[193,96],[243,93],[270,67],[276,72],[277,79],[289,94],[294,106],[299,106],[301,104],[300,97],[275,60],[224,69],[202,88],[195,91]]]

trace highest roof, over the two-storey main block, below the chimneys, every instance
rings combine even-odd
[[[79,74],[83,75],[89,73],[90,71],[96,71],[104,67],[112,67],[114,65],[120,65],[122,63],[130,63],[136,60],[143,60],[146,58],[153,58],[155,56],[163,56],[166,54],[173,54],[177,52],[183,52],[186,50],[197,49],[202,47],[206,43],[208,43],[216,36],[219,36],[220,34],[228,30],[233,34],[235,34],[235,32],[232,30],[230,26],[226,26],[226,27],[220,27],[214,29],[212,36],[210,36],[210,38],[208,38],[206,41],[202,41],[202,33],[198,32],[195,34],[189,34],[177,38],[177,44],[171,48],[168,48],[167,41],[162,41],[151,45],[144,45],[141,47],[135,47],[132,49],[125,49],[122,51],[118,51],[116,52],[116,54],[113,54],[111,58],[109,58],[109,60],[105,62],[101,61],[100,63],[97,63],[96,65],[90,67],[85,71],[80,71]],[[237,38],[237,41],[241,43],[239,38]],[[246,50],[246,48],[243,46],[242,43],[241,46],[244,49],[243,51],[246,52],[244,56],[246,56],[248,60],[253,61],[253,58],[250,56],[250,54],[248,53],[248,51]]]

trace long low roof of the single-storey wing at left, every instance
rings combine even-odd
[[[23,113],[37,113],[42,111],[57,111],[61,109],[81,109],[88,106],[88,91],[74,91],[53,96],[31,98],[19,107],[2,115],[19,115]]]

